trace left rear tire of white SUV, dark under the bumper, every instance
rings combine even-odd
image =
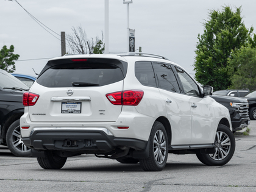
[[[54,151],[44,151],[45,157],[37,157],[37,162],[43,169],[61,169],[66,163],[66,157],[60,157]]]

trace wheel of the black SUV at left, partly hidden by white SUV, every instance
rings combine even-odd
[[[20,119],[14,121],[7,130],[6,143],[13,155],[30,157],[31,149],[27,148],[21,140]]]

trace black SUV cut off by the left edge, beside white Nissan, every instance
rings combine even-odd
[[[0,144],[16,156],[30,156],[21,141],[20,117],[24,113],[23,93],[29,90],[23,82],[0,69]]]

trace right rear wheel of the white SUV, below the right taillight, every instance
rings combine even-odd
[[[168,158],[168,137],[162,123],[154,123],[148,142],[149,157],[140,158],[140,166],[144,171],[162,171]]]

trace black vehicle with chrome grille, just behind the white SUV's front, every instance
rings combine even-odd
[[[211,97],[229,109],[233,133],[237,130],[241,130],[244,127],[247,127],[250,124],[250,118],[248,114],[249,105],[246,99],[222,95],[212,95]]]

